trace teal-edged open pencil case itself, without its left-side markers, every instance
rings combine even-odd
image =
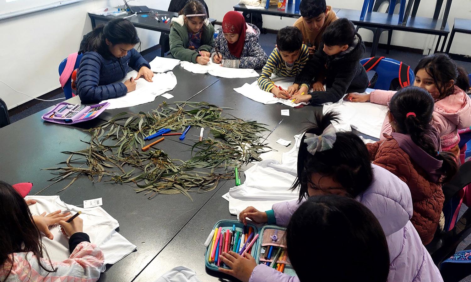
[[[242,233],[244,229],[244,224],[241,221],[229,220],[229,219],[219,220],[218,222],[216,222],[216,224],[213,227],[213,230],[215,230],[216,228],[218,228],[219,230],[219,227],[221,227],[221,232],[223,234],[226,232],[226,230],[229,230],[229,232],[232,234],[232,228],[234,225],[235,225],[235,234],[237,234],[237,232]],[[265,225],[261,228],[258,228],[255,225],[248,223],[245,229],[249,231],[250,227],[252,227],[252,230],[253,230],[253,234],[254,234],[253,237],[256,234],[259,235],[259,237],[257,238],[257,241],[255,241],[255,243],[253,243],[252,245],[252,250],[249,252],[252,255],[252,257],[255,258],[255,260],[257,261],[257,264],[263,263],[263,264],[268,264],[269,266],[273,266],[272,265],[273,259],[276,257],[278,248],[282,248],[281,254],[279,255],[278,259],[275,262],[275,268],[277,268],[276,267],[277,264],[280,264],[280,265],[284,264],[282,272],[291,276],[295,276],[296,273],[292,269],[292,266],[288,260],[286,251],[284,250],[284,247],[285,247],[284,232],[286,228],[276,226],[276,225]],[[237,238],[236,235],[235,237]],[[213,240],[211,239],[210,244],[206,248],[205,265],[207,268],[211,270],[218,271],[219,266],[217,265],[216,251],[214,251],[214,257],[213,257],[214,260],[210,260],[212,249],[213,249],[212,242]],[[241,242],[241,245],[242,245],[242,242]],[[217,246],[215,248],[218,249]],[[271,253],[269,251],[270,248],[272,249]],[[232,251],[234,251],[234,249],[232,249]],[[240,251],[240,248],[237,252],[239,251]],[[270,253],[269,256],[268,256],[268,253]],[[222,263],[220,263],[220,267],[229,269],[228,266],[223,265]]]

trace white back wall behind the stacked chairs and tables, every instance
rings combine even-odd
[[[238,0],[205,0],[210,9],[210,16],[216,18],[218,21],[222,21],[224,14],[227,11],[233,10],[233,6],[238,3]],[[432,3],[432,4],[430,4]],[[335,8],[349,8],[349,9],[361,9],[363,0],[327,0],[327,5]],[[380,11],[386,11],[387,4],[380,8]],[[443,5],[445,6],[445,5]],[[444,7],[443,7],[444,8]],[[442,8],[442,14],[443,14]],[[396,13],[398,13],[399,6],[396,7]],[[422,0],[417,16],[431,17],[435,9],[435,1],[433,0]],[[283,17],[280,19],[278,16],[263,15],[263,25],[270,29],[280,29],[286,25],[292,25],[296,19]],[[454,0],[450,9],[450,15],[448,16],[448,24],[450,25],[450,31],[453,27],[453,19],[455,17],[471,19],[471,0]],[[373,40],[373,32],[360,29],[358,31],[365,41]],[[381,36],[380,43],[387,43],[388,33],[384,32]],[[424,54],[429,54],[435,50],[435,44],[438,36],[425,35],[412,32],[394,31],[391,44],[397,46],[406,46],[412,48],[423,49]],[[443,40],[443,38],[442,38]],[[471,35],[456,33],[453,45],[450,49],[450,53],[471,55],[471,48],[469,48],[469,42]],[[441,44],[440,44],[441,46]]]

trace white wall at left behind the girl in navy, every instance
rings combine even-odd
[[[130,5],[167,10],[169,3],[170,0],[134,0]],[[122,4],[122,0],[85,0],[0,20],[0,80],[33,97],[59,88],[59,63],[78,51],[82,36],[91,31],[87,11]],[[138,29],[138,33],[141,50],[159,43],[160,32]],[[31,100],[1,82],[0,98],[8,109]]]

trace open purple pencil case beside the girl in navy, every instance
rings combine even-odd
[[[41,118],[45,121],[60,124],[74,124],[96,118],[106,110],[109,105],[110,103],[108,102],[96,105],[80,105],[61,102],[52,110],[42,115]]]

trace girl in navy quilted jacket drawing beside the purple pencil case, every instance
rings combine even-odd
[[[83,103],[96,103],[118,98],[136,90],[136,81],[152,81],[154,73],[147,61],[134,49],[139,43],[138,31],[126,19],[114,19],[99,25],[81,42],[84,53],[77,73],[77,93]],[[129,67],[138,71],[136,78],[116,82],[126,76]]]

